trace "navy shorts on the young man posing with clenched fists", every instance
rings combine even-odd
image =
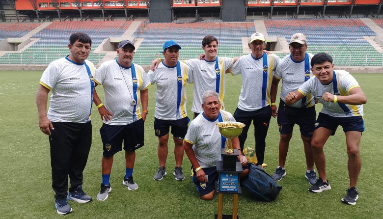
[[[343,132],[356,131],[362,133],[364,131],[363,116],[334,117],[320,112],[315,123],[315,129],[320,127],[332,130],[331,136],[335,135],[338,126],[342,126]]]

